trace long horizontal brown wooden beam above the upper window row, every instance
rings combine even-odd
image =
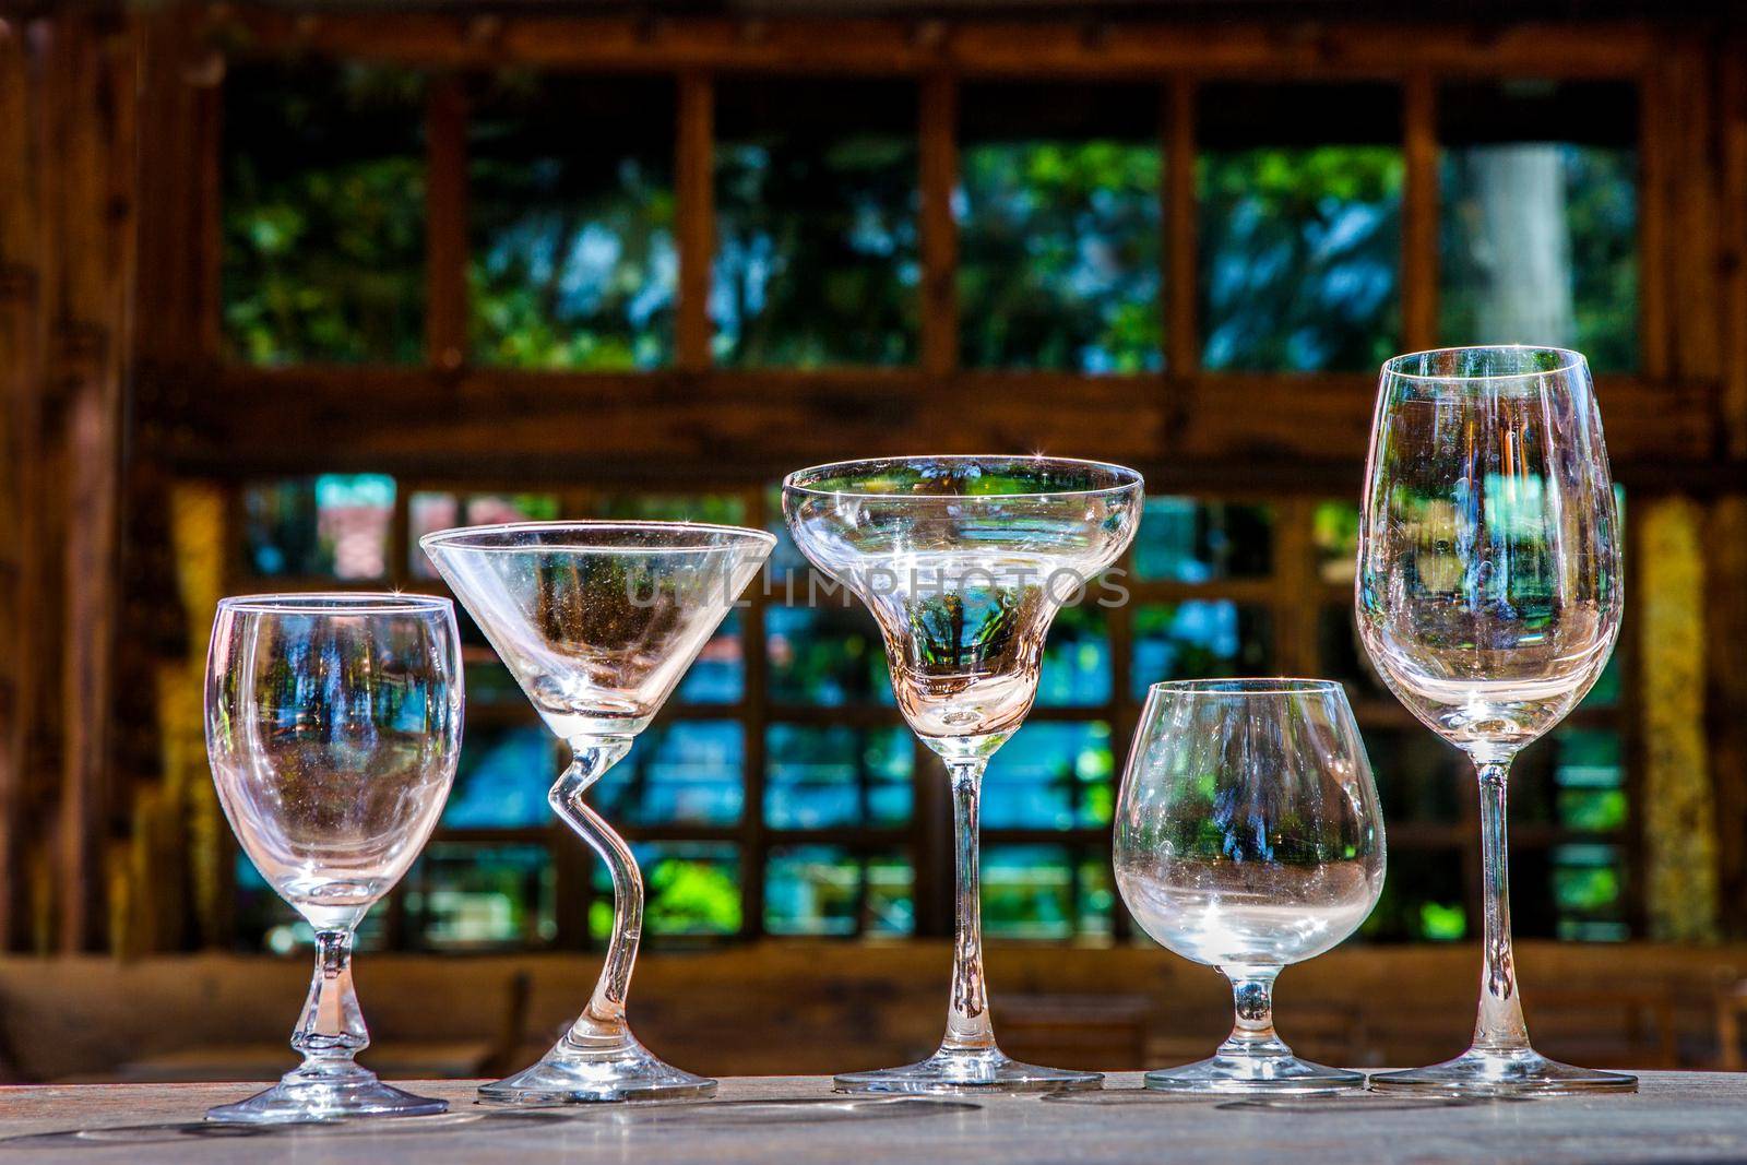
[[[1130,77],[1162,70],[1232,77],[1403,77],[1419,68],[1485,77],[1630,77],[1653,59],[1647,24],[1420,24],[1335,21],[1282,35],[1277,23],[1183,21],[493,16],[290,12],[236,5],[210,28],[248,52],[320,52],[425,66],[760,70],[816,75],[947,68],[980,77]],[[938,35],[917,35],[919,26]]]

